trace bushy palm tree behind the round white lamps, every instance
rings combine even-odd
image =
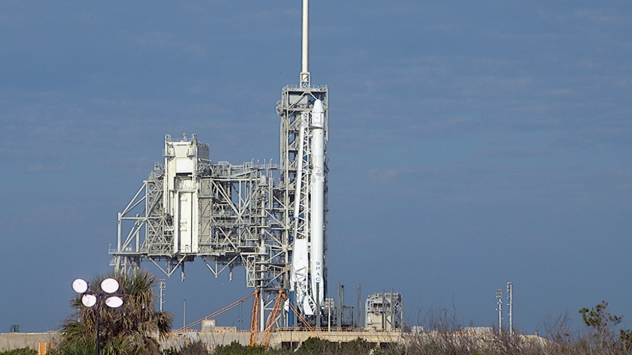
[[[90,291],[100,291],[97,287],[107,277],[119,281],[123,306],[109,308],[103,302],[97,302],[95,306],[85,307],[81,296],[73,298],[71,306],[76,311],[61,326],[57,352],[63,355],[94,354],[98,322],[102,355],[159,354],[156,337],[164,339],[169,334],[173,315],[154,310],[155,292],[152,286],[157,278],[140,270],[129,274],[112,273],[95,277],[90,282]]]

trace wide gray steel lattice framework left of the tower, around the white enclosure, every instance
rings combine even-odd
[[[198,144],[195,136],[191,143]],[[289,289],[288,233],[282,220],[286,208],[281,203],[284,193],[273,184],[273,171],[278,167],[198,160],[197,250],[174,248],[178,220],[165,212],[165,167],[156,165],[118,215],[118,240],[116,248],[110,250],[111,265],[116,270],[134,269],[140,268],[142,260],[149,260],[169,277],[181,268],[182,279],[185,262],[195,258],[204,260],[216,277],[228,269],[232,279],[233,268],[243,265],[246,286],[264,293],[262,308],[269,310],[276,291]]]

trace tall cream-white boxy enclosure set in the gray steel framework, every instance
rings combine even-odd
[[[165,137],[164,213],[173,221],[173,253],[198,252],[198,162],[209,160],[209,146],[198,143],[195,135],[188,140]]]

